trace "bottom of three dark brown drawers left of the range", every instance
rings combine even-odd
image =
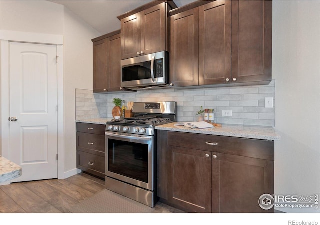
[[[77,151],[77,168],[105,178],[105,157]]]

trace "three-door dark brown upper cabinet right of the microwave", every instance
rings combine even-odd
[[[169,14],[174,86],[271,81],[272,1],[196,1]]]

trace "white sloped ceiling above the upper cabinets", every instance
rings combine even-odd
[[[151,0],[53,0],[51,2],[64,5],[74,14],[82,18],[101,34],[120,29],[120,21],[116,18]],[[174,0],[180,7],[194,0]]]

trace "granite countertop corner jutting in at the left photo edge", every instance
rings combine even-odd
[[[0,182],[5,182],[22,175],[22,168],[14,162],[0,156]]]

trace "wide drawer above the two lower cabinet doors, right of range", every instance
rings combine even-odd
[[[239,137],[168,132],[168,145],[274,160],[274,142]]]

